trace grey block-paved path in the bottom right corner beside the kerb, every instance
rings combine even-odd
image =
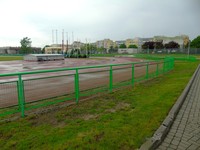
[[[169,133],[157,150],[200,150],[200,70]]]

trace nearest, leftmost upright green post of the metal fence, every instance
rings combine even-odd
[[[22,76],[18,75],[18,98],[19,98],[19,105],[20,105],[20,109],[21,109],[21,116],[24,117],[24,102],[25,102],[25,98],[24,98],[24,83],[22,80]]]

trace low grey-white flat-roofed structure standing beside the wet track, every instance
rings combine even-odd
[[[26,61],[54,61],[64,59],[64,55],[62,54],[29,54],[24,56],[24,60]]]

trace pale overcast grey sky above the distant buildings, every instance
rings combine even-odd
[[[200,0],[0,0],[0,47],[52,44],[52,30],[72,41],[200,35]],[[65,33],[66,35],[66,33]],[[65,39],[66,40],[66,39]],[[54,39],[54,41],[56,41]]]

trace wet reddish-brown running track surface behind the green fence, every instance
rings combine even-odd
[[[64,61],[1,61],[0,73],[30,72],[36,70],[75,68],[80,66],[96,66],[106,64],[123,64],[130,62],[144,62],[143,59],[122,58],[89,58],[89,59],[65,59]],[[162,68],[162,64],[159,65]],[[115,66],[113,69],[113,83],[131,80],[132,71],[130,65]],[[149,73],[156,71],[156,64],[149,63]],[[79,70],[80,91],[108,86],[110,67],[91,68]],[[134,77],[145,76],[146,63],[135,65]],[[52,97],[58,97],[74,93],[74,70],[62,72],[49,72],[41,74],[30,74],[22,77],[24,83],[25,100],[33,102]],[[18,104],[17,91],[18,76],[0,78],[0,108]]]

